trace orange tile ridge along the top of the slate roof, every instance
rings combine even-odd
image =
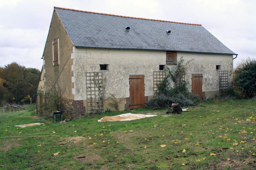
[[[123,17],[123,18],[133,18],[133,19],[141,19],[141,20],[162,21],[162,22],[168,22],[168,23],[188,24],[188,25],[198,25],[198,26],[202,26],[202,24],[181,23],[181,22],[175,22],[175,21],[156,20],[156,19],[139,18],[139,17],[128,17],[128,16],[122,16],[122,15],[106,14],[106,13],[92,12],[92,11],[83,11],[83,10],[70,9],[70,8],[62,8],[62,7],[54,7],[54,8],[65,9],[65,10],[71,10],[71,11],[79,11],[79,12],[87,12],[87,13],[92,13],[92,14],[111,15],[111,16]]]

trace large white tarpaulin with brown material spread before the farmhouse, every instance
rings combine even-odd
[[[131,120],[148,118],[153,116],[157,116],[157,115],[142,115],[142,114],[126,113],[126,114],[117,115],[117,116],[105,116],[100,120],[98,120],[98,122],[131,121]]]

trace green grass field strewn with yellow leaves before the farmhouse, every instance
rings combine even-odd
[[[97,122],[129,112],[158,116]],[[47,120],[28,111],[1,113],[0,137],[55,133],[0,138],[0,169],[256,169],[255,114],[255,99],[206,101],[177,115],[135,109],[26,128],[14,125]]]

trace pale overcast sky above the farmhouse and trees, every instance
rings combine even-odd
[[[0,66],[42,67],[53,7],[202,24],[238,57],[256,58],[255,0],[0,0]]]

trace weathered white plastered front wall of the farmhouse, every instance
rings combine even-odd
[[[219,90],[216,65],[222,70],[228,70],[229,82],[232,79],[232,55],[183,53],[177,52],[177,60],[183,56],[190,63],[186,79],[191,82],[192,73],[203,74],[203,91]],[[86,100],[86,72],[103,72],[106,79],[106,97],[114,94],[116,98],[129,97],[129,75],[145,75],[145,96],[153,95],[153,71],[159,70],[159,65],[166,64],[166,51],[150,50],[118,50],[100,48],[73,48],[71,54],[74,70],[74,100]],[[109,64],[109,70],[100,70],[99,64]],[[175,67],[175,66],[171,66]]]

